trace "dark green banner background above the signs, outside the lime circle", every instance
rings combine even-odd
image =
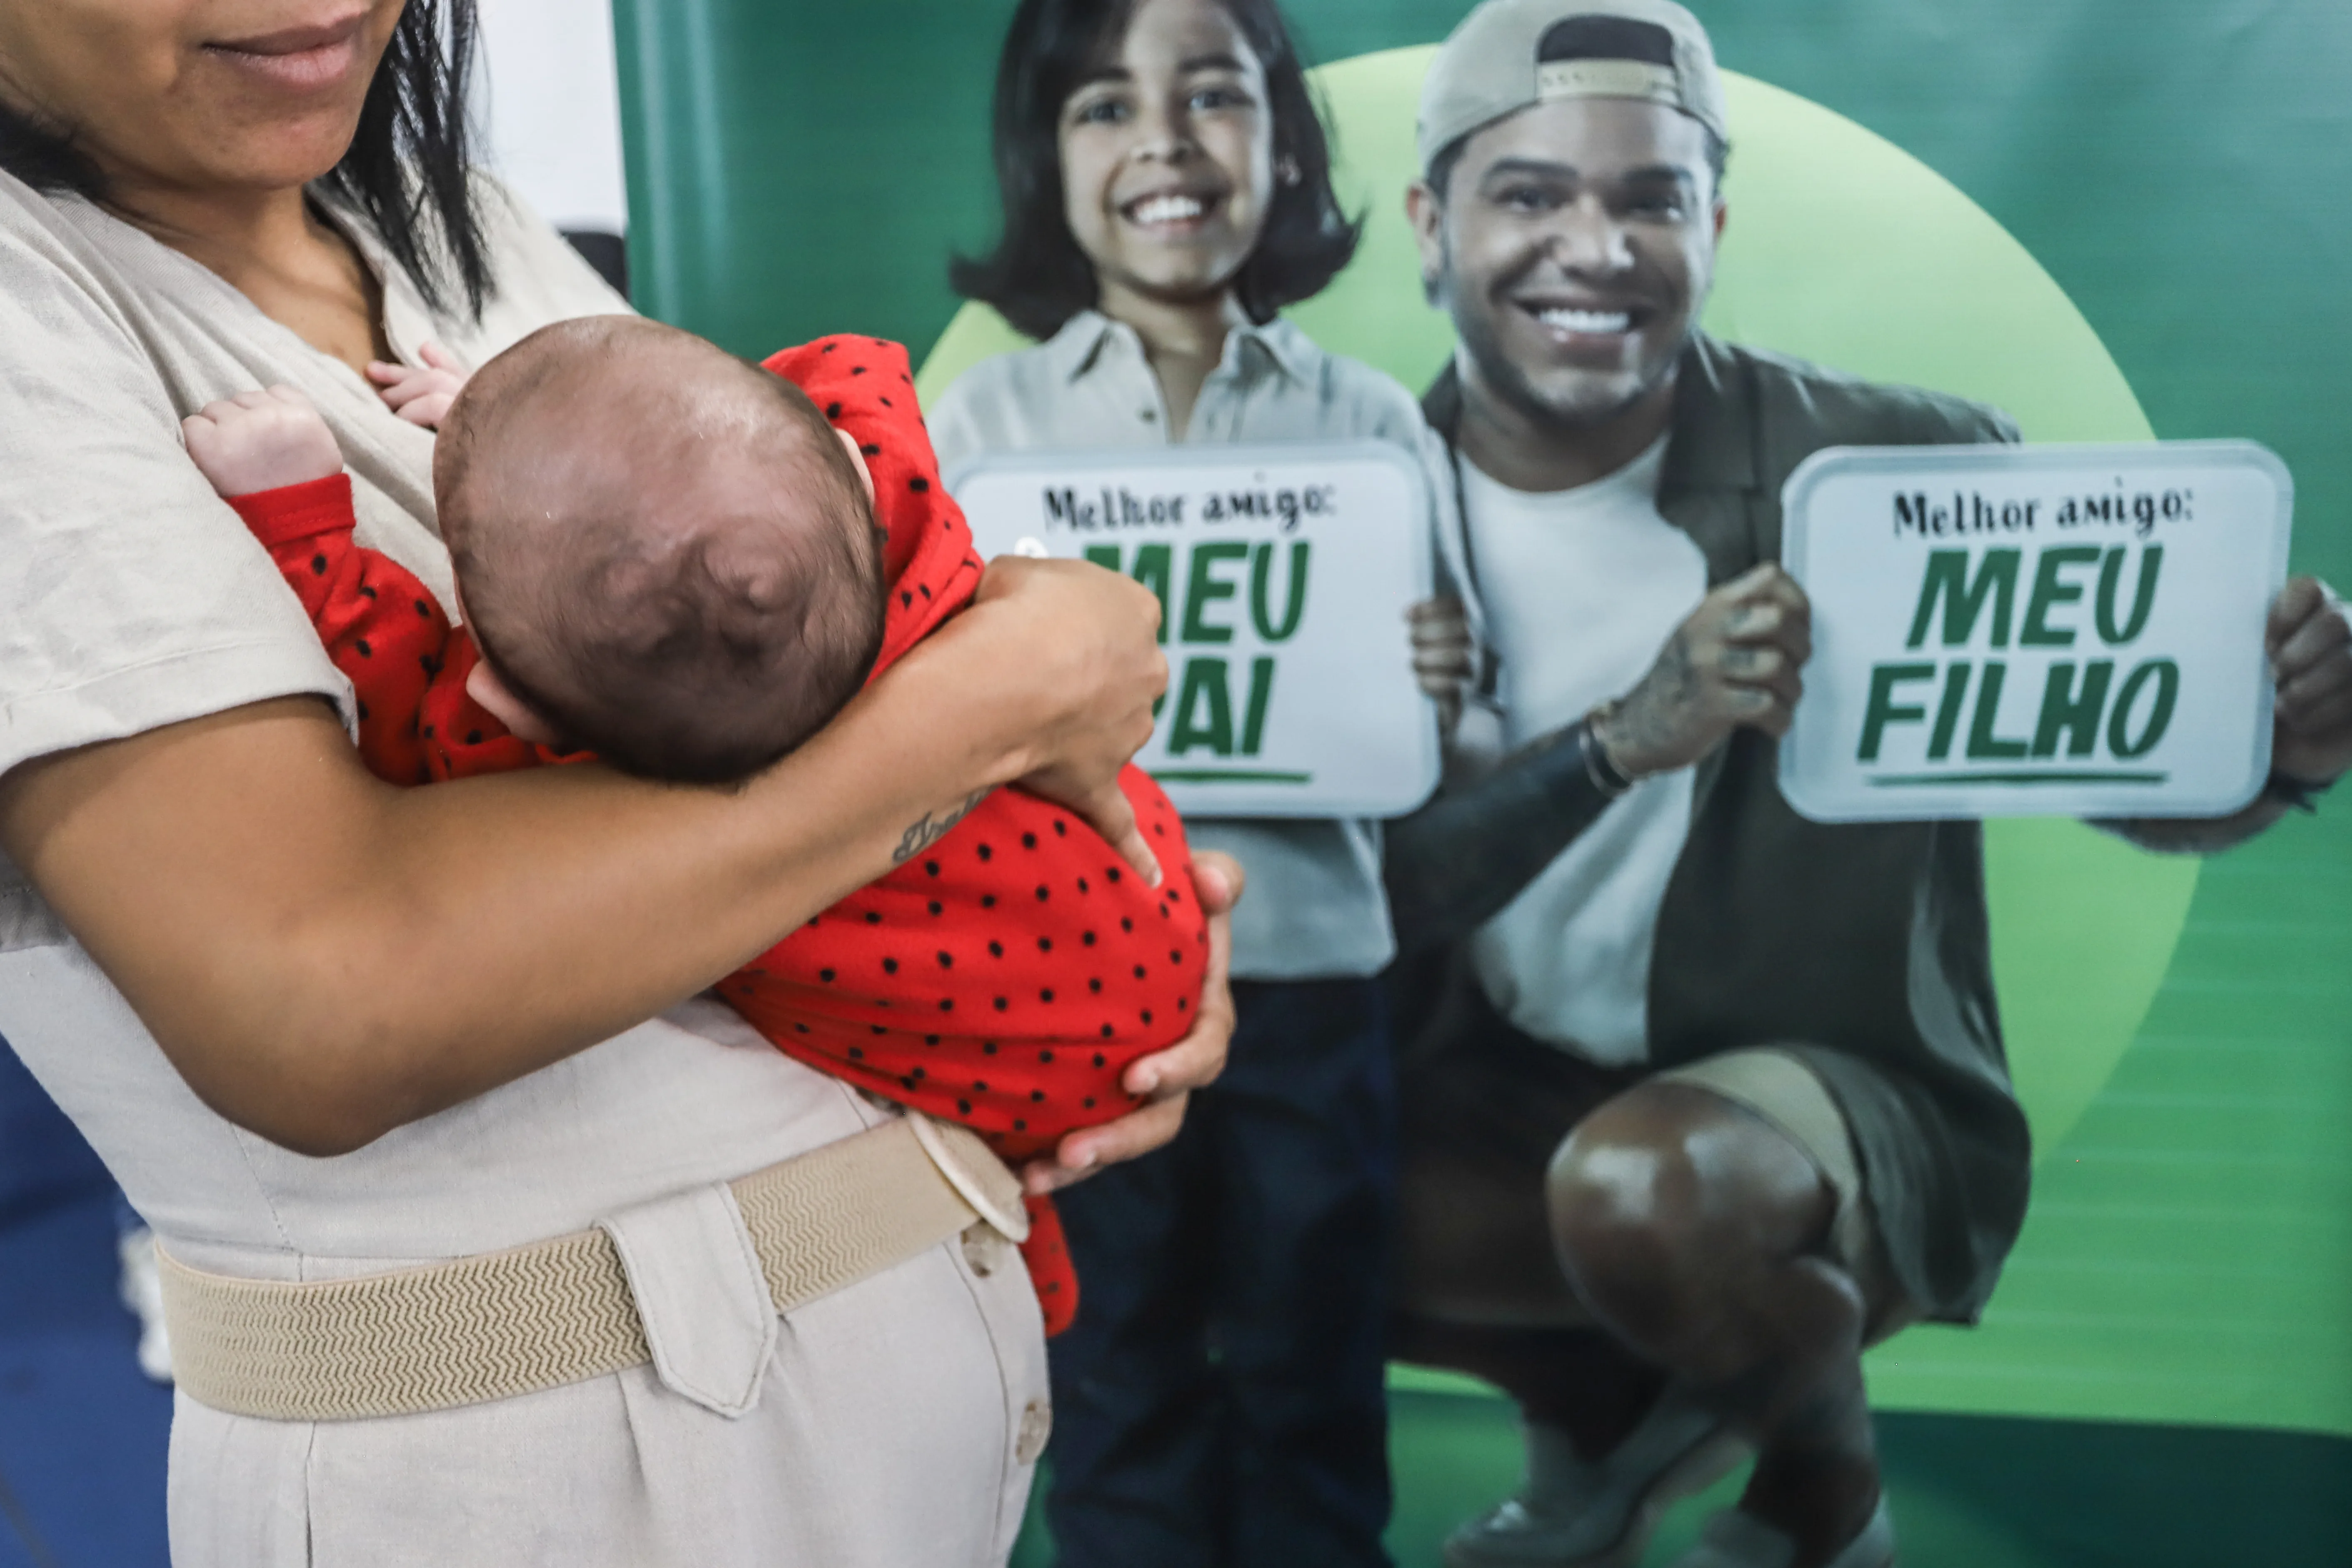
[[[1454,0],[1294,0],[1308,56],[1435,42]],[[2056,275],[2159,435],[2296,470],[2352,578],[2352,7],[2343,0],[1698,0],[1724,66],[1910,150]],[[856,327],[922,360],[995,221],[1007,0],[616,0],[640,303],[753,353]],[[1733,127],[1736,129],[1736,127]],[[1733,158],[1736,181],[1736,158]],[[1738,186],[1733,183],[1733,200]],[[2328,520],[2314,527],[2312,520]]]

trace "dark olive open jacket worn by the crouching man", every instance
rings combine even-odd
[[[1423,409],[1451,444],[1451,367]],[[1813,451],[1994,440],[2016,425],[1980,404],[1698,336],[1677,371],[1658,510],[1715,585],[1780,557],[1780,487]],[[1475,597],[1477,562],[1454,543]],[[1776,766],[1752,729],[1698,764],[1651,952],[1649,1060],[1797,1051],[1846,1110],[1896,1276],[1931,1316],[1973,1319],[2025,1218],[2030,1164],[1992,997],[1983,830],[1811,823]],[[1399,938],[1423,950],[1501,910],[1599,811],[1576,748],[1543,741],[1449,792],[1390,830]],[[1470,898],[1465,867],[1484,879]],[[1449,969],[1463,983],[1468,966]]]

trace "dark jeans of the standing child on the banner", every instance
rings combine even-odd
[[[1063,1568],[1388,1563],[1395,1067],[1374,980],[1235,983],[1183,1133],[1061,1194]]]

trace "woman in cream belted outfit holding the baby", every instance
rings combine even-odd
[[[997,1561],[1047,1420],[1021,1269],[974,1225],[779,1324],[776,1248],[739,1178],[906,1124],[694,997],[981,790],[1023,780],[1129,832],[1110,780],[1164,684],[1148,597],[1000,569],[734,795],[602,769],[372,783],[334,710],[348,689],[176,421],[303,388],[362,541],[447,595],[430,437],[369,367],[397,378],[386,362],[419,364],[426,339],[480,362],[626,308],[468,179],[470,31],[466,0],[0,9],[0,1034],[155,1225],[167,1272],[195,1269],[183,1300],[228,1302],[195,1340],[174,1324],[209,1380],[273,1410],[416,1410],[230,1415],[183,1387],[174,1559]],[[1211,907],[1235,891],[1204,877]],[[1218,971],[1202,1027],[1129,1079],[1155,1103],[1030,1185],[1164,1143],[1225,1016]],[[908,1180],[946,1204],[931,1220],[988,1211],[985,1192],[955,1208],[929,1166],[891,1168],[887,1201],[861,1180],[779,1201],[851,1239],[903,1218]],[[510,1291],[496,1269],[550,1258],[548,1239],[602,1260],[614,1333],[635,1335],[560,1387],[510,1373],[609,1326],[612,1302],[593,1309],[576,1274]],[[440,1260],[459,1262],[358,1293],[245,1284]],[[506,1281],[494,1300],[515,1305],[485,1321],[513,1342],[360,1312],[332,1319],[355,1349],[303,1361],[320,1387],[287,1392],[294,1347],[233,1333],[240,1312],[449,1279]],[[475,1373],[536,1392],[449,1396]]]

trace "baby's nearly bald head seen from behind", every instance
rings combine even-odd
[[[510,729],[729,783],[807,741],[882,646],[873,482],[800,388],[656,322],[588,317],[482,367],[433,456]]]

